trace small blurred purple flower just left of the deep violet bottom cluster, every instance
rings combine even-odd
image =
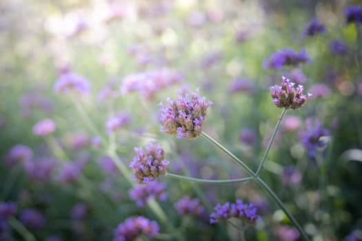
[[[179,215],[194,215],[198,216],[203,211],[205,211],[205,207],[200,205],[200,201],[198,198],[190,199],[190,196],[183,196],[174,204],[174,209],[177,210]]]

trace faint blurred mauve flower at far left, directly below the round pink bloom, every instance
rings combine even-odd
[[[52,158],[39,158],[37,160],[27,161],[24,167],[30,179],[46,182],[50,180],[55,164],[56,162]]]

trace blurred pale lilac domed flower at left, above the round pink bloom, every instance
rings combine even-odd
[[[79,76],[77,73],[65,72],[55,82],[54,90],[59,93],[74,90],[85,95],[90,90],[90,83],[86,77]]]

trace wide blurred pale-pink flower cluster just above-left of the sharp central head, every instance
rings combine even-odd
[[[144,98],[150,99],[158,90],[179,83],[182,78],[179,72],[168,69],[130,74],[122,80],[121,94],[137,91]]]

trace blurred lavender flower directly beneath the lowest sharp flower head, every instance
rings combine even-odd
[[[164,201],[167,198],[165,184],[160,182],[150,182],[147,185],[134,185],[130,191],[130,198],[137,202],[139,207],[145,205],[150,198]]]

